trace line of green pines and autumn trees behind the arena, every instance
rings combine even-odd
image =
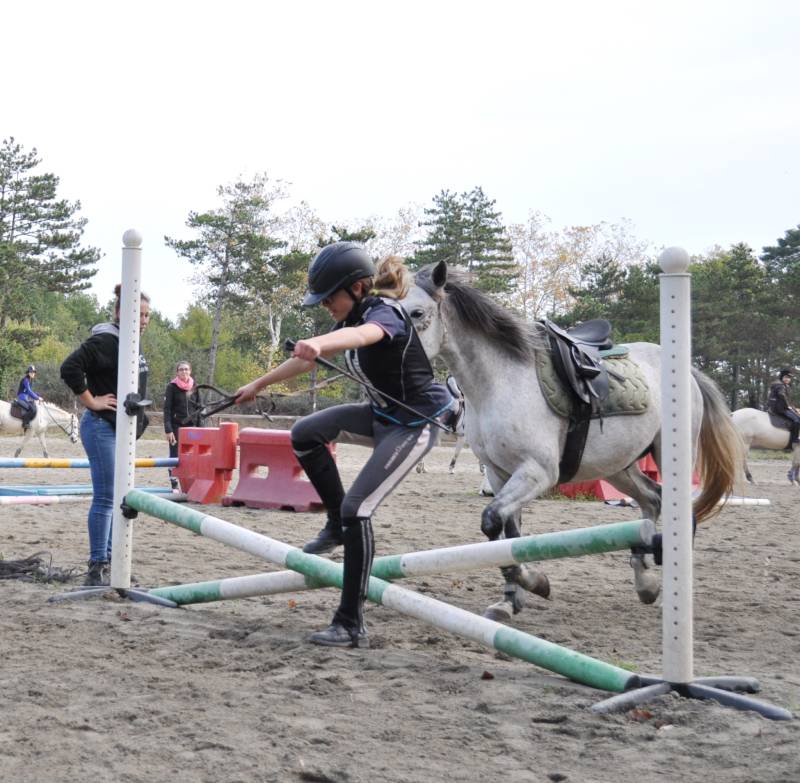
[[[12,396],[32,362],[45,396],[67,402],[58,366],[109,318],[111,303],[86,293],[100,252],[84,246],[80,202],[61,198],[58,177],[40,165],[35,149],[3,141],[0,389]],[[627,222],[557,230],[532,211],[525,223],[508,225],[479,186],[442,190],[428,206],[406,206],[389,219],[330,226],[307,202],[292,204],[284,183],[259,174],[220,186],[216,204],[188,212],[185,229],[164,241],[192,270],[196,296],[173,322],[150,291],[156,309],[142,345],[152,390],[166,385],[180,359],[192,362],[198,380],[235,389],[282,360],[286,338],[327,328],[326,313],[300,301],[314,254],[337,240],[362,242],[376,259],[401,255],[412,268],[447,261],[529,320],[569,326],[608,318],[618,342],[658,341],[656,253]],[[693,257],[690,271],[695,364],[732,407],[762,405],[772,375],[798,353],[800,226],[760,255],[745,244],[714,248]],[[330,401],[355,393],[347,384],[322,392]],[[292,412],[304,404],[283,401]]]

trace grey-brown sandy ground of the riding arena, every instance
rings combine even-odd
[[[10,456],[15,441],[0,438]],[[140,456],[163,456],[144,440]],[[53,456],[82,457],[51,440]],[[483,540],[477,463],[454,476],[449,447],[412,473],[375,519],[378,554]],[[340,447],[345,482],[363,460]],[[29,449],[27,456],[39,456]],[[760,680],[760,698],[800,715],[800,490],[787,463],[751,463],[747,489],[771,507],[730,508],[698,534],[695,673]],[[140,470],[164,486],[166,471]],[[88,471],[0,470],[0,484],[88,482]],[[41,550],[85,569],[88,504],[0,507],[0,552]],[[320,515],[211,513],[301,545]],[[591,502],[537,501],[524,531],[636,518]],[[140,517],[133,573],[143,586],[269,570],[257,559]],[[639,604],[623,552],[545,564],[551,600],[531,597],[515,625],[632,671],[661,670],[660,602]],[[76,577],[74,585],[81,581]],[[416,580],[475,612],[501,596],[496,569]],[[606,694],[370,607],[372,648],[306,643],[335,591],[181,610],[116,597],[47,603],[58,585],[0,581],[0,778],[7,781],[574,781],[777,783],[800,780],[800,720],[678,696],[600,716]]]

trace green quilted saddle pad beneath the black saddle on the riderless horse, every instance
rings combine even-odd
[[[609,370],[608,397],[600,404],[599,413],[592,418],[644,413],[650,404],[650,389],[639,365],[628,358],[627,347],[615,346],[602,351],[600,357]],[[612,372],[621,375],[624,380],[617,380]],[[572,416],[572,396],[564,390],[549,351],[536,351],[536,375],[539,388],[552,411],[565,419]]]

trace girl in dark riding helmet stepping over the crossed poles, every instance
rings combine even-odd
[[[312,634],[309,641],[314,644],[369,646],[362,610],[374,554],[372,515],[436,445],[438,428],[425,417],[452,416],[453,398],[434,383],[419,337],[397,302],[409,286],[410,273],[399,258],[387,258],[376,269],[353,242],[323,248],[308,270],[303,304],[321,304],[335,326],[327,334],[298,340],[290,359],[237,392],[237,402],[251,400],[265,386],[307,372],[318,357],[342,351],[350,372],[369,384],[368,402],[337,405],[292,427],[294,452],[328,512],[325,527],[303,551],[321,554],[344,544],[339,608],[328,628]],[[347,492],[328,451],[328,444],[340,436],[354,436],[373,447]]]

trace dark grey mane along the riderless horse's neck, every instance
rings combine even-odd
[[[477,288],[467,285],[463,276],[448,269],[444,285],[445,304],[464,329],[486,337],[499,351],[522,362],[533,360],[534,350],[542,347],[540,330],[497,304]]]

